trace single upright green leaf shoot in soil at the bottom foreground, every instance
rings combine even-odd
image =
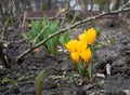
[[[40,73],[37,76],[35,80],[36,95],[42,95],[43,80],[44,80],[44,70],[40,71]]]

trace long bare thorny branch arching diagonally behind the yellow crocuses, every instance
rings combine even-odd
[[[105,16],[105,15],[108,15],[108,14],[117,14],[117,13],[126,12],[126,11],[130,11],[130,8],[118,9],[118,10],[109,11],[109,12],[103,12],[103,13],[101,13],[101,14],[99,14],[99,15],[95,15],[95,16],[92,16],[92,17],[89,17],[89,18],[84,18],[84,19],[82,19],[82,21],[80,21],[80,22],[77,22],[77,23],[73,24],[72,26],[66,27],[66,28],[64,28],[64,29],[60,29],[58,31],[50,35],[47,39],[42,40],[41,42],[39,42],[39,43],[36,44],[35,46],[32,46],[31,49],[28,49],[28,50],[26,50],[25,52],[23,52],[22,54],[20,54],[20,55],[16,57],[16,63],[17,63],[22,57],[24,57],[25,55],[27,55],[28,53],[30,53],[34,49],[40,46],[41,44],[44,44],[49,39],[53,38],[53,37],[56,36],[56,35],[60,35],[60,33],[62,33],[62,32],[64,32],[64,31],[66,31],[66,30],[68,30],[68,29],[73,29],[73,28],[75,28],[75,27],[77,27],[77,26],[79,26],[79,25],[81,25],[81,24],[83,24],[83,23],[94,21],[94,19],[100,18],[100,17],[102,17],[102,16]]]

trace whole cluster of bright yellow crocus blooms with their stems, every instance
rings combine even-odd
[[[80,74],[86,74],[83,70],[87,70],[88,64],[92,57],[91,48],[96,39],[96,31],[94,28],[84,30],[83,33],[78,36],[77,39],[72,39],[66,43],[66,49],[70,53],[70,57],[75,65],[78,65],[78,72]],[[80,68],[79,68],[80,65]],[[82,69],[82,70],[79,70]]]

